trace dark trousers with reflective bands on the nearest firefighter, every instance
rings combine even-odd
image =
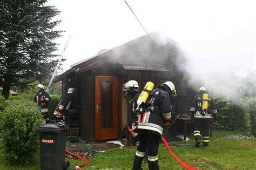
[[[158,145],[160,137],[159,135],[152,133],[149,130],[139,131],[139,146],[137,147],[136,155],[133,161],[133,170],[140,169],[142,165],[143,157],[147,149],[149,161],[149,169],[159,169],[158,167]]]

